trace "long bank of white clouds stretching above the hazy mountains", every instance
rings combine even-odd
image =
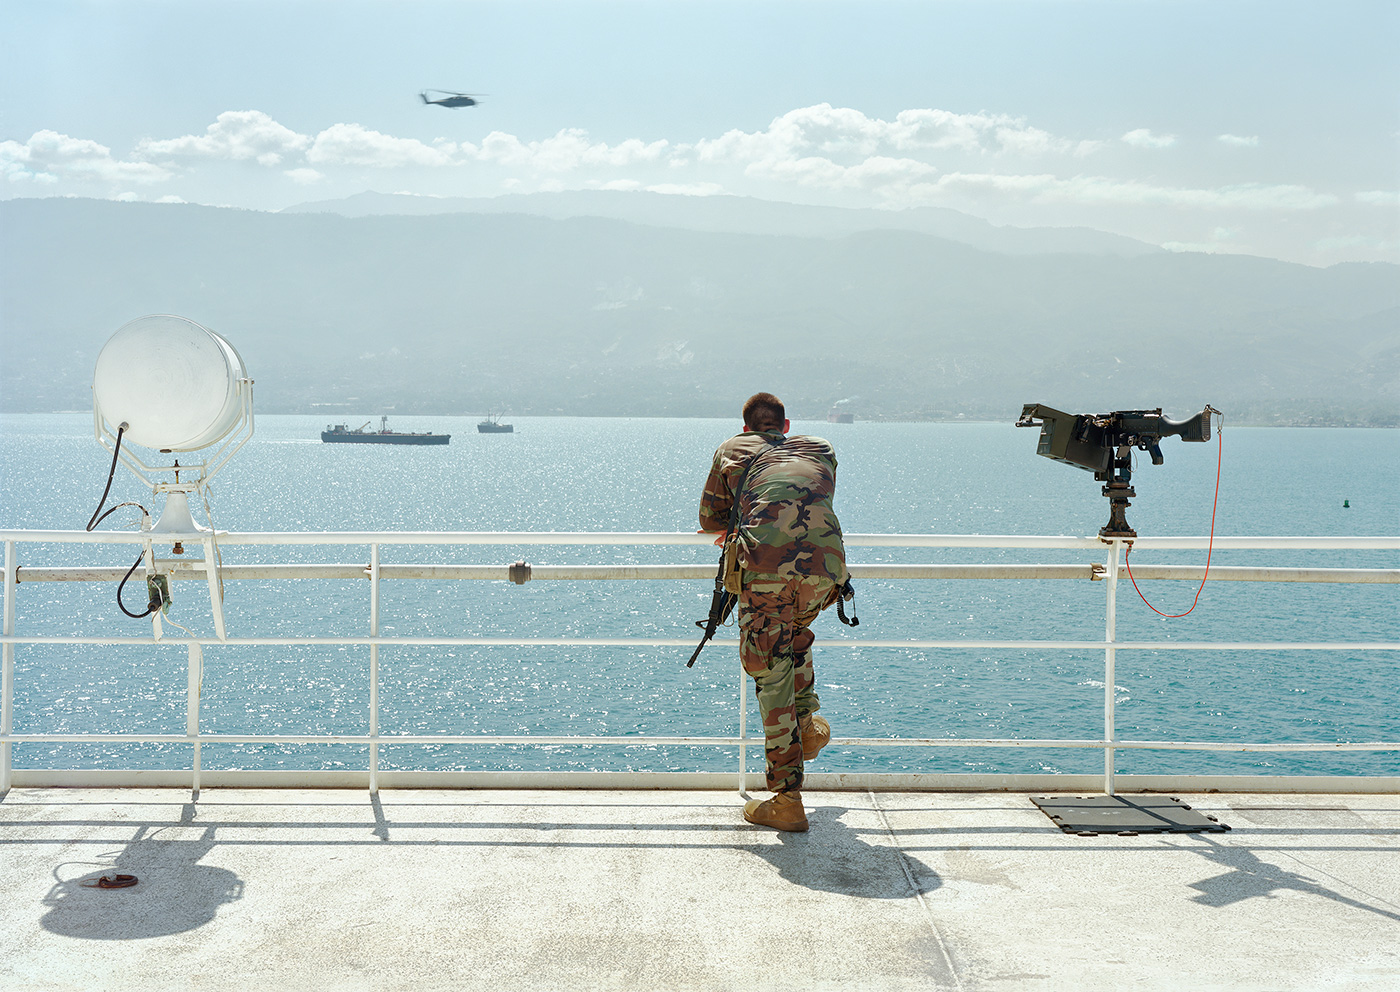
[[[1214,137],[1215,147],[1259,146],[1259,137]],[[431,185],[444,196],[585,187],[892,208],[941,204],[995,222],[1116,224],[1124,232],[1142,227],[1154,234],[1138,236],[1154,242],[1180,238],[1169,243],[1180,250],[1259,249],[1261,245],[1245,246],[1245,235],[1232,228],[1211,231],[1217,224],[1246,225],[1240,213],[1284,215],[1341,203],[1336,194],[1303,185],[1173,185],[1173,173],[1166,169],[1183,157],[1155,164],[1154,169],[1162,172],[1149,175],[1141,166],[1142,155],[1128,151],[1177,144],[1175,134],[1147,127],[1096,140],[1054,134],[1012,115],[937,108],[906,109],[882,119],[818,104],[790,111],[752,132],[732,129],[683,143],[675,137],[599,141],[582,129],[564,129],[539,140],[497,130],[476,141],[399,137],[358,123],[336,123],[307,136],[259,111],[230,111],[220,113],[203,134],[143,140],[127,161],[97,141],[56,132],[38,132],[22,143],[0,141],[0,175],[11,183],[10,194],[34,194],[34,187],[43,185],[49,193],[77,196],[98,189],[101,194],[129,199],[154,199],[165,192],[158,183],[178,176],[183,196],[223,201],[231,197],[218,183],[231,182],[231,169],[210,164],[259,165],[238,169],[237,182],[272,197],[283,196],[288,182],[353,192],[357,185],[363,187],[365,168],[379,171],[385,185],[426,194],[416,186],[424,182],[424,169],[431,169]],[[1100,164],[1088,172],[1091,157]],[[1249,179],[1245,168],[1257,157],[1228,158],[1236,164],[1235,175]],[[1130,171],[1134,168],[1138,171]],[[133,190],[141,190],[141,196]],[[246,201],[256,196],[248,193]],[[1348,193],[1347,203],[1354,213],[1355,207],[1372,214],[1375,207],[1394,210],[1400,192]],[[1177,224],[1186,229],[1176,231]],[[1249,239],[1259,238],[1254,221],[1247,225]],[[1295,225],[1299,231],[1303,227]],[[1343,224],[1333,227],[1351,234]],[[1347,250],[1345,245],[1324,248]]]

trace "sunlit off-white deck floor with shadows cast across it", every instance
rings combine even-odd
[[[1400,989],[1400,798],[1182,799],[1077,837],[1018,793],[14,789],[0,988]],[[134,888],[80,884],[101,873]]]

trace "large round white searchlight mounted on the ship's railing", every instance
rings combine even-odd
[[[238,350],[182,316],[139,318],[102,346],[92,372],[94,434],[153,491],[167,494],[157,532],[200,529],[188,494],[199,493],[252,437],[252,386]],[[161,455],[213,451],[185,465],[150,465],[129,445]],[[174,479],[167,481],[165,473]]]

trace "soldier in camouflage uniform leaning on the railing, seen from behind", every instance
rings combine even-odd
[[[749,802],[745,820],[806,830],[802,763],[832,737],[816,716],[809,628],[846,583],[841,525],[832,509],[836,452],[822,438],[787,437],[781,400],[756,393],[743,404],[743,434],[714,453],[700,501],[700,529],[725,532],[738,506],[739,658],[753,677],[763,716],[767,802]],[[753,462],[748,479],[745,470]],[[735,490],[743,480],[743,493]],[[715,543],[721,543],[722,537]]]

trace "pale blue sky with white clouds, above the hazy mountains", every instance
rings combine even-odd
[[[1397,52],[1394,0],[6,0],[0,199],[647,189],[1400,262]]]

